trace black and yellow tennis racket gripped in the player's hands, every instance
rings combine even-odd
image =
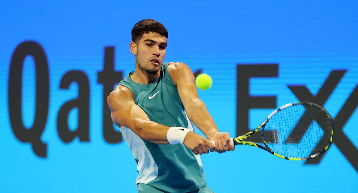
[[[245,141],[259,131],[264,146]],[[256,129],[230,141],[233,145],[261,148],[280,158],[305,160],[317,157],[332,144],[333,121],[317,104],[289,103],[274,110]]]

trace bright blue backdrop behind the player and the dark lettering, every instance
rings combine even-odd
[[[104,138],[102,108],[106,104],[97,73],[104,68],[105,47],[115,51],[114,71],[124,77],[134,70],[130,31],[146,18],[158,20],[169,31],[166,62],[182,61],[193,72],[202,70],[212,76],[212,88],[198,91],[199,97],[219,129],[232,137],[247,130],[237,123],[237,113],[245,113],[237,107],[245,103],[238,100],[245,95],[238,89],[245,85],[238,80],[246,76],[239,69],[261,64],[274,66],[272,72],[276,72],[271,77],[261,72],[261,77],[248,81],[251,97],[276,97],[272,98],[276,104],[270,104],[274,107],[248,110],[245,120],[250,129],[274,108],[301,100],[290,86],[306,88],[309,92],[300,94],[304,98],[308,93],[315,97],[326,79],[327,85],[334,85],[320,98],[326,98],[321,102],[333,118],[343,109],[336,130],[341,136],[337,140],[343,135],[345,140],[335,141],[318,164],[287,161],[242,146],[235,152],[202,155],[214,192],[358,192],[357,10],[355,0],[2,2],[0,192],[136,192],[136,162],[129,148],[124,141],[109,143]],[[16,86],[9,80],[14,76],[22,82],[22,116],[15,113],[11,118],[14,123],[22,120],[28,131],[36,130],[29,129],[35,119],[35,93],[40,90],[35,85],[34,56],[26,56],[21,74],[10,74],[14,51],[24,42],[40,45],[48,63],[48,116],[43,117],[44,131],[39,135],[47,144],[45,157],[34,152],[30,139],[21,142],[10,123],[9,92]],[[78,122],[83,112],[70,109],[68,127],[75,131],[88,122],[89,138],[81,141],[76,137],[65,143],[59,137],[57,119],[61,108],[76,99],[79,88],[86,84],[70,81],[66,89],[60,83],[66,73],[75,70],[88,78],[89,119]],[[332,73],[341,76],[328,79]]]

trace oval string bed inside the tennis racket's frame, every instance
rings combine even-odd
[[[297,104],[275,113],[264,125],[265,134],[274,138],[267,146],[292,158],[306,158],[323,151],[329,144],[332,127],[328,115],[319,107]],[[272,132],[267,132],[267,131]],[[264,136],[266,138],[266,136]]]

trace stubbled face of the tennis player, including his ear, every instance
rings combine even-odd
[[[143,34],[135,46],[136,50],[131,51],[139,67],[151,74],[158,72],[165,57],[166,38],[150,32]]]

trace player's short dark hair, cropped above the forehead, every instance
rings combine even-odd
[[[168,39],[168,31],[163,24],[153,19],[144,19],[136,23],[132,28],[132,41],[139,40],[144,33],[155,32]]]

